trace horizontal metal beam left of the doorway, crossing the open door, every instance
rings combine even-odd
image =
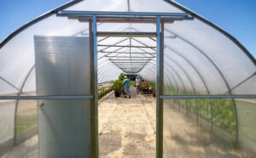
[[[93,95],[0,96],[0,100],[28,99],[93,99]]]

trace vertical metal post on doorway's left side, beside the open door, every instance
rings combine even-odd
[[[96,15],[93,15],[93,45],[94,45],[94,116],[95,116],[95,157],[99,156],[98,152],[98,68],[97,68],[97,21]]]

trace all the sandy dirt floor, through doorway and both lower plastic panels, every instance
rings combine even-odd
[[[131,94],[136,94],[131,87]],[[100,157],[155,157],[155,98],[132,95],[99,100]],[[164,104],[164,157],[251,157],[223,138],[212,136],[196,121]],[[16,146],[3,157],[38,157],[38,136]]]

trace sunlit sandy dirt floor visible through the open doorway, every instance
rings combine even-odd
[[[155,98],[111,93],[98,111],[100,157],[155,157]]]

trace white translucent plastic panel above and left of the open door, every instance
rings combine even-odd
[[[41,20],[28,29],[20,32],[13,40],[9,41],[0,49],[0,76],[10,82],[15,87],[22,87],[26,82],[32,67],[35,65],[33,36],[73,36],[84,28],[88,28],[88,23],[79,23],[77,20],[67,20],[67,18],[49,16]],[[32,73],[34,75],[34,73]],[[27,90],[35,91],[34,76],[26,85],[30,85]],[[17,93],[13,87],[1,90],[5,92]],[[24,92],[24,91],[23,91]]]

